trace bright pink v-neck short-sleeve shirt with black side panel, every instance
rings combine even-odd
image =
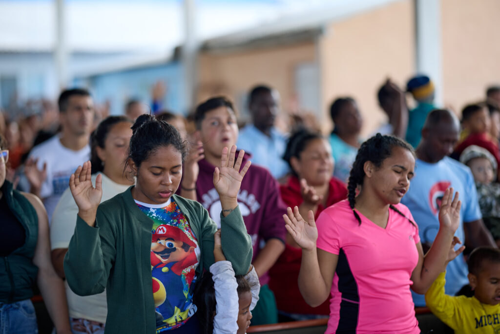
[[[317,248],[338,255],[331,285],[326,333],[419,333],[409,286],[418,262],[418,229],[408,208],[389,209],[381,228],[356,211],[347,200],[321,212],[316,225]]]

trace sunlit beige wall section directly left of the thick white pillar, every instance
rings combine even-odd
[[[324,131],[331,130],[329,105],[351,96],[364,119],[362,135],[385,120],[376,92],[386,78],[404,87],[414,72],[413,3],[406,0],[331,24],[320,40]]]

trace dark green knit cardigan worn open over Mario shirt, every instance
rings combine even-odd
[[[66,280],[76,294],[107,295],[105,333],[155,333],[151,278],[153,221],[135,204],[130,189],[101,203],[95,227],[79,216],[64,257]],[[201,250],[196,275],[214,262],[217,227],[200,203],[172,195],[198,240]],[[236,274],[245,274],[252,258],[250,236],[239,212],[221,215],[222,249]]]

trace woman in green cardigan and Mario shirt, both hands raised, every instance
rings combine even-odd
[[[142,115],[132,131],[126,165],[135,186],[99,205],[101,180],[92,187],[89,161],[70,178],[78,215],[64,258],[68,285],[79,295],[106,288],[106,333],[200,332],[192,291],[214,262],[216,225],[201,204],[174,195],[186,155],[175,128]],[[245,274],[252,248],[236,197],[249,163],[241,168],[235,151],[222,150],[213,184],[224,254]]]

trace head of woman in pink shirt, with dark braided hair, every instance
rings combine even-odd
[[[413,148],[402,139],[377,133],[362,143],[347,185],[347,199],[356,220],[361,223],[354,210],[358,187],[359,195],[389,205],[390,209],[402,215],[394,205],[408,190],[414,167]]]

